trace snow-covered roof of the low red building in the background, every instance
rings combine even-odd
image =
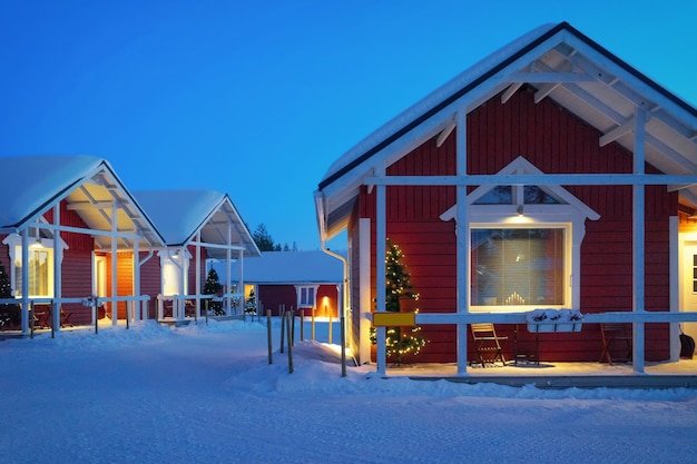
[[[341,284],[343,264],[322,250],[264,251],[262,257],[243,263],[248,284]],[[214,263],[220,280],[225,280],[225,263]],[[237,280],[239,266],[230,266],[230,280]]]

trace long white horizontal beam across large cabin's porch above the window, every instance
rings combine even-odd
[[[697,175],[664,174],[491,174],[470,176],[367,176],[374,186],[481,186],[481,185],[681,185],[697,184]]]

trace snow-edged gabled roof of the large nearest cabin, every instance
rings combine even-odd
[[[597,128],[601,144],[634,150],[635,111],[645,125],[646,160],[666,174],[697,174],[697,109],[610,53],[567,22],[544,24],[479,61],[346,151],[315,191],[320,234],[345,229],[363,178],[390,166],[439,134],[448,132],[458,110],[472,110],[523,83],[536,100],[551,98]],[[697,187],[680,190],[697,205]]]

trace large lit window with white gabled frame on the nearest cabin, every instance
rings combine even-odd
[[[500,175],[543,175],[522,157]],[[580,305],[586,220],[600,215],[561,186],[482,185],[465,205],[469,310],[524,312]],[[441,216],[458,218],[458,205]]]

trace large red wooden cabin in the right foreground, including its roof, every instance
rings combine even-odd
[[[421,295],[416,324],[430,343],[413,361],[457,362],[465,374],[470,324],[492,322],[520,346],[536,338],[528,313],[573,308],[582,330],[541,335],[547,359],[597,362],[599,324],[621,322],[641,373],[646,361],[676,359],[678,324],[697,322],[697,249],[686,248],[696,181],[697,110],[565,22],[370,135],[330,167],[315,205],[323,243],[347,231],[361,362],[371,313],[384,312],[375,289],[389,238]],[[384,372],[383,327],[377,335]]]

